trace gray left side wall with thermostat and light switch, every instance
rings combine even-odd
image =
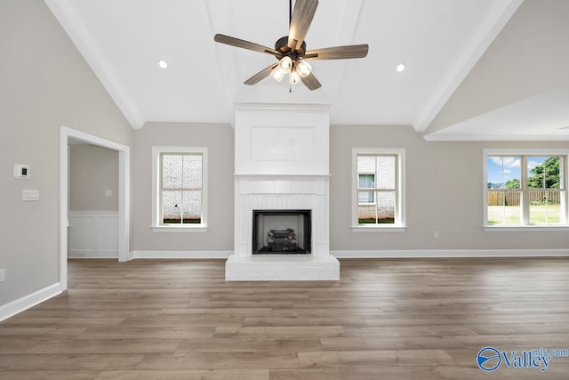
[[[59,279],[60,125],[124,145],[132,128],[43,1],[0,2],[0,52],[2,305]],[[14,164],[30,178],[13,178]]]

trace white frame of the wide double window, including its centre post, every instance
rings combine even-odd
[[[485,149],[483,150],[483,213],[482,213],[482,226],[485,231],[569,231],[569,189],[567,189],[568,184],[568,170],[569,166],[569,150],[563,149]],[[565,215],[565,222],[558,224],[530,224],[529,223],[529,203],[522,201],[520,208],[522,210],[522,215],[520,217],[519,224],[488,224],[488,158],[492,156],[503,156],[503,157],[519,157],[522,159],[522,167],[520,167],[520,189],[522,192],[522,198],[524,194],[527,195],[530,189],[527,187],[527,158],[530,157],[553,157],[558,156],[563,158],[561,163],[560,176],[560,190],[565,192],[565,197],[561,198],[561,212]]]

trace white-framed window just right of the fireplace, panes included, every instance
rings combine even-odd
[[[353,150],[353,230],[405,227],[405,150]]]

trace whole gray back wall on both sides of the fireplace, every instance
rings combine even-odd
[[[233,129],[228,125],[147,124],[134,133],[133,241],[138,251],[233,249]],[[485,148],[569,149],[569,142],[432,142],[411,126],[332,125],[330,248],[357,250],[566,249],[566,232],[485,232]],[[207,233],[153,232],[153,145],[209,147]],[[405,148],[405,232],[351,230],[352,148]],[[439,231],[439,239],[433,231]]]

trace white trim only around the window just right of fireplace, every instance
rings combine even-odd
[[[397,219],[394,224],[361,225],[357,223],[357,156],[358,155],[397,155]],[[352,231],[353,232],[404,232],[405,225],[405,148],[352,148]]]

